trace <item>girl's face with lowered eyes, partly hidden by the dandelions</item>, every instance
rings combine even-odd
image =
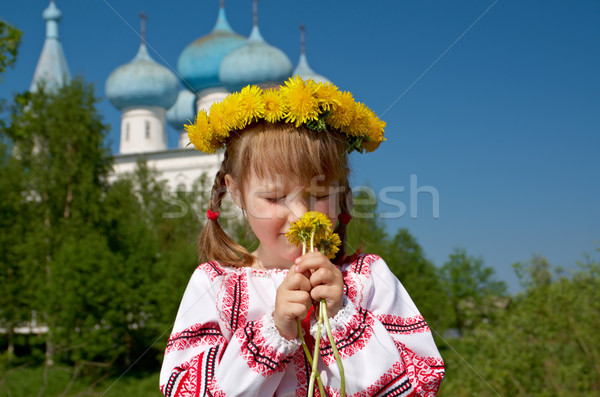
[[[293,265],[302,248],[288,243],[285,233],[305,212],[322,212],[335,225],[340,194],[337,181],[324,183],[325,178],[315,177],[307,186],[292,175],[265,173],[265,177],[259,178],[251,172],[241,187],[230,175],[225,178],[229,192],[246,212],[260,241],[253,253],[259,266],[289,269]]]

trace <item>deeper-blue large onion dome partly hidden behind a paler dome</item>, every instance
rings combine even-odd
[[[213,30],[190,43],[179,56],[177,71],[184,85],[195,92],[220,87],[219,68],[223,58],[245,42],[246,38],[235,33],[229,26],[221,1],[219,16]]]

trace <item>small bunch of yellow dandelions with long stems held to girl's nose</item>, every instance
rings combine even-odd
[[[335,257],[335,254],[339,251],[338,247],[341,244],[340,237],[331,229],[331,222],[329,219],[318,211],[310,211],[305,213],[300,219],[291,225],[290,229],[286,233],[286,237],[291,244],[296,246],[302,245],[302,254],[305,254],[307,251],[313,252],[315,249],[317,249],[329,259],[333,259]],[[319,343],[321,340],[321,326],[324,325],[327,331],[327,337],[331,343],[333,355],[335,356],[335,361],[337,362],[340,370],[340,396],[344,397],[346,395],[344,366],[342,365],[340,354],[337,350],[337,346],[335,345],[335,339],[333,339],[331,326],[329,325],[329,318],[327,317],[327,304],[325,303],[325,300],[321,299],[321,302],[319,302],[317,336],[315,337],[315,347],[312,356],[308,350],[306,341],[304,340],[302,327],[300,324],[301,322],[298,321],[298,335],[302,340],[302,347],[304,348],[306,358],[309,362],[312,362],[308,396],[313,396],[314,394],[315,380],[319,386],[321,396],[325,395],[321,378],[317,372],[317,359],[319,357]]]

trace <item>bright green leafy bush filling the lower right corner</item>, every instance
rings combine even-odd
[[[521,274],[531,278],[532,274]],[[597,396],[600,263],[518,294],[496,323],[455,340],[444,396]]]

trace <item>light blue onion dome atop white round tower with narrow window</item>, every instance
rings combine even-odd
[[[169,69],[150,58],[142,43],[129,63],[108,76],[105,92],[110,103],[119,110],[134,106],[168,109],[177,100],[179,81]]]

